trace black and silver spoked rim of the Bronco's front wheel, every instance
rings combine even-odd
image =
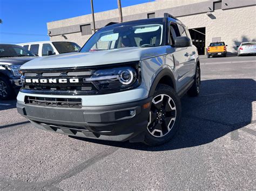
[[[172,98],[160,94],[153,98],[147,130],[154,137],[164,137],[173,128],[176,121],[176,105]]]

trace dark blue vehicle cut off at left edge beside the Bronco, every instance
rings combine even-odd
[[[0,44],[0,99],[17,95],[21,88],[19,68],[23,63],[37,58],[35,54],[18,45]],[[15,94],[16,93],[16,94]]]

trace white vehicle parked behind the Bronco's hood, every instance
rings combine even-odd
[[[18,44],[29,49],[38,56],[49,56],[53,54],[63,54],[69,52],[78,52],[80,46],[68,41],[42,41],[34,43]]]

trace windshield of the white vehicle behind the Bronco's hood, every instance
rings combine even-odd
[[[55,46],[59,54],[78,52],[80,48],[78,44],[71,42],[53,42],[52,44]]]

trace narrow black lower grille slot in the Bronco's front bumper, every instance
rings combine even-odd
[[[82,108],[81,98],[52,98],[25,96],[25,104],[59,108]]]

